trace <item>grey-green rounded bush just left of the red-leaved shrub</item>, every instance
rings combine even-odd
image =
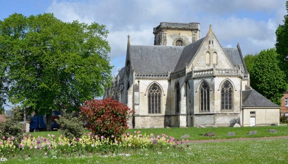
[[[82,120],[78,117],[73,117],[72,113],[64,113],[63,116],[59,116],[59,120],[56,120],[61,134],[67,138],[79,138],[84,130]]]

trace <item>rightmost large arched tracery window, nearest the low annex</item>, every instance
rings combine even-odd
[[[233,88],[230,82],[225,81],[221,87],[221,110],[232,110]]]

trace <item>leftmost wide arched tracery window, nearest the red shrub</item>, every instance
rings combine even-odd
[[[152,84],[148,91],[148,113],[161,113],[161,89],[156,83]]]

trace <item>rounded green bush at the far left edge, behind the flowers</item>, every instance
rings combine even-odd
[[[0,136],[5,138],[14,137],[19,142],[23,134],[23,125],[14,118],[7,118],[5,122],[0,123]]]

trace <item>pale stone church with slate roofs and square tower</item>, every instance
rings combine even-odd
[[[130,44],[125,66],[106,89],[135,110],[130,128],[270,126],[279,106],[250,87],[239,44],[222,47],[210,25],[161,22],[154,45]],[[124,64],[123,64],[124,65]]]

